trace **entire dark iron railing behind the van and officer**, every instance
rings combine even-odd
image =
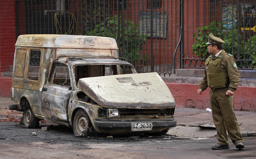
[[[239,69],[253,69],[255,8],[256,0],[16,0],[16,35],[113,37],[138,72],[170,76],[204,68],[211,32]]]

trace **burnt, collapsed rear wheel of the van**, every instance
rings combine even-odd
[[[33,129],[38,127],[39,119],[34,115],[30,104],[28,103],[24,109],[23,116],[20,121],[20,126],[24,128]]]

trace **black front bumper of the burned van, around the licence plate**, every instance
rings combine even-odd
[[[131,129],[132,123],[152,122],[153,128],[167,128],[176,126],[177,121],[174,118],[169,119],[140,119],[140,120],[109,120],[99,119],[94,120],[94,125],[100,129]]]

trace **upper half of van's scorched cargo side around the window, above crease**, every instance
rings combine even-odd
[[[31,50],[41,51],[40,65],[33,66],[33,68],[30,68],[31,66],[29,64]],[[12,87],[41,91],[48,78],[55,53],[55,48],[17,47],[14,58]],[[23,54],[24,56],[22,56]],[[31,70],[29,70],[29,68]],[[28,74],[31,73],[33,69],[37,70],[35,73],[38,73],[38,80],[28,78]]]

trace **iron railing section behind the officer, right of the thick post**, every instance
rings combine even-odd
[[[208,57],[209,33],[225,41],[239,69],[254,69],[256,62],[255,0],[192,0],[184,2],[185,56],[182,68],[203,68]],[[192,9],[189,9],[192,6]],[[192,49],[191,49],[192,48]],[[202,52],[205,52],[202,55]]]

